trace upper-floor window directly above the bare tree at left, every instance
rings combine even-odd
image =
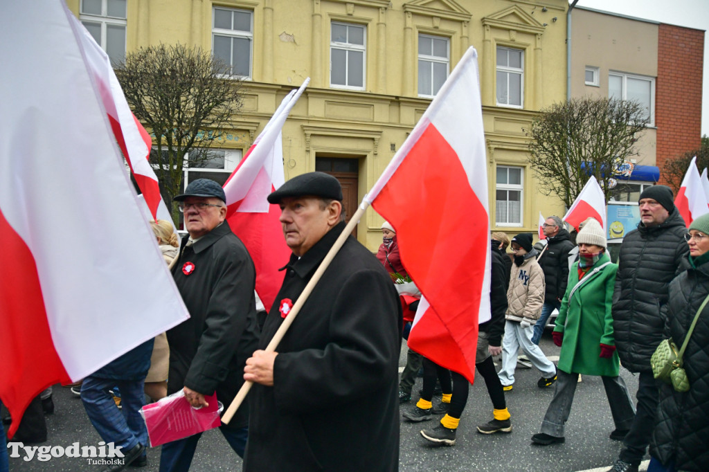
[[[251,11],[212,9],[212,52],[231,67],[232,75],[251,77],[253,31]]]

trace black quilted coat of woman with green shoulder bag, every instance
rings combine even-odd
[[[699,306],[709,294],[709,263],[689,269],[669,286],[665,337],[681,347]],[[683,356],[689,391],[662,384],[651,454],[681,471],[705,471],[709,464],[709,306],[692,332]]]

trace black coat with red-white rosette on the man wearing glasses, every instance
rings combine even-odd
[[[217,399],[228,408],[244,383],[246,359],[258,343],[254,263],[227,223],[194,245],[185,247],[186,242],[187,237],[172,276],[190,318],[167,332],[167,391],[174,393],[186,386],[211,395],[216,390]],[[187,262],[194,270],[183,270]],[[245,403],[229,427],[247,423]]]

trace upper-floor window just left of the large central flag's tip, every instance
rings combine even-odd
[[[418,35],[418,94],[435,96],[448,78],[448,38]]]

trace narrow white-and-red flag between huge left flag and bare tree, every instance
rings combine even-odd
[[[94,38],[76,17],[72,16],[71,21],[74,23],[73,28],[76,31],[79,45],[84,50],[86,66],[89,67],[91,78],[94,80],[101,101],[106,108],[113,135],[123,151],[123,157],[128,162],[130,172],[133,172],[135,183],[143,192],[143,198],[145,198],[147,208],[150,208],[152,218],[157,220],[157,208],[160,203],[164,206],[164,203],[160,195],[160,187],[157,184],[157,176],[148,161],[152,139],[138,118],[135,118],[133,112],[130,111],[128,101],[125,101],[123,89],[118,83],[118,78],[113,72],[111,60],[108,59],[106,52],[96,44]],[[172,220],[172,218],[170,219]]]

